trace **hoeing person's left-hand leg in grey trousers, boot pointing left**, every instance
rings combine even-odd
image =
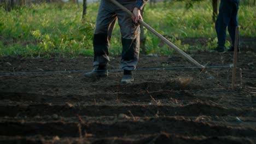
[[[96,28],[94,32],[94,70],[84,74],[86,77],[107,76],[107,63],[109,61],[108,46],[109,41],[117,20],[117,14],[114,13],[113,4],[102,0],[98,8]]]

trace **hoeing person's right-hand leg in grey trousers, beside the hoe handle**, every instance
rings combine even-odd
[[[127,9],[133,10],[136,1],[120,1]],[[121,82],[130,83],[133,81],[131,71],[136,69],[139,57],[139,25],[134,23],[131,16],[125,11],[118,9],[118,22],[121,31],[123,51],[121,56],[121,69],[124,76]],[[125,79],[127,81],[125,81]],[[128,80],[129,79],[129,80]]]

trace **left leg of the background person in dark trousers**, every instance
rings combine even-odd
[[[218,48],[224,49],[226,41],[226,27],[229,25],[232,14],[231,2],[222,0],[219,5],[219,14],[216,20],[216,33],[218,37]],[[217,49],[218,49],[217,48]]]

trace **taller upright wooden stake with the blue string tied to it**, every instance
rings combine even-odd
[[[238,48],[238,37],[239,37],[239,27],[236,27],[236,37],[235,37],[235,47],[234,47],[234,58],[233,58],[233,72],[232,72],[232,89],[235,89],[236,83],[236,57]]]

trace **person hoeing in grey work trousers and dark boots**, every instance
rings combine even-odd
[[[96,28],[94,32],[94,69],[85,73],[85,77],[107,77],[107,63],[109,62],[109,41],[115,26],[118,23],[121,31],[121,43],[123,51],[121,56],[121,69],[124,70],[121,83],[132,83],[132,70],[136,68],[139,57],[139,25],[138,20],[142,20],[141,9],[148,0],[117,0],[125,8],[132,11],[130,17],[124,10],[117,7],[108,0],[101,0],[98,8]]]

